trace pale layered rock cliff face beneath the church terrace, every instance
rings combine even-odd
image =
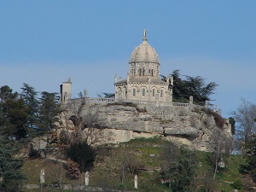
[[[84,124],[113,132],[109,143],[158,136],[198,150],[211,151],[212,137],[217,131],[231,139],[226,119],[204,108],[92,105],[83,109],[82,116]]]

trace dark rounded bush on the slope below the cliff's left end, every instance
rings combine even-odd
[[[85,142],[72,143],[67,148],[67,156],[79,164],[80,172],[90,171],[96,160],[95,149]]]

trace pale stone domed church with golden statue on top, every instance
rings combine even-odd
[[[144,30],[143,43],[131,53],[127,79],[118,80],[115,76],[115,100],[172,102],[172,86],[172,77],[160,78],[159,57],[148,44]]]

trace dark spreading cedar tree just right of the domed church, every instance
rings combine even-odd
[[[201,76],[185,75],[183,76],[185,79],[182,79],[179,70],[173,71],[171,76],[173,78],[172,96],[175,102],[188,102],[189,96],[193,96],[194,103],[203,105],[206,100],[212,101],[210,96],[218,86],[214,82],[206,84]]]

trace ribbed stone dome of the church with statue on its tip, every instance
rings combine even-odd
[[[154,62],[159,63],[159,58],[154,48],[148,44],[146,32],[144,32],[143,44],[135,48],[130,57],[131,62]]]

